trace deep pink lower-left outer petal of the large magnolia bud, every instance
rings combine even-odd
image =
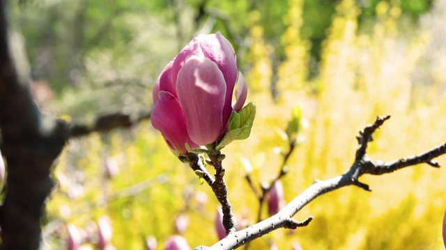
[[[185,143],[188,143],[192,148],[198,147],[197,144],[190,141],[187,135],[183,110],[173,94],[160,91],[159,99],[153,107],[151,122],[153,128],[161,131],[164,140],[176,156],[187,153]]]

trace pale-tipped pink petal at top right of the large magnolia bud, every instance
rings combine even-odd
[[[224,38],[220,32],[211,35],[199,35],[197,39],[204,56],[216,63],[222,71],[226,82],[223,121],[227,121],[232,113],[232,92],[237,79],[236,52],[231,42]]]

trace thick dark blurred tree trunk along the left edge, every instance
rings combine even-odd
[[[31,99],[23,41],[9,30],[7,2],[0,2],[1,151],[8,172],[1,249],[38,249],[40,215],[53,187],[49,172],[65,145],[66,124],[43,116]]]

